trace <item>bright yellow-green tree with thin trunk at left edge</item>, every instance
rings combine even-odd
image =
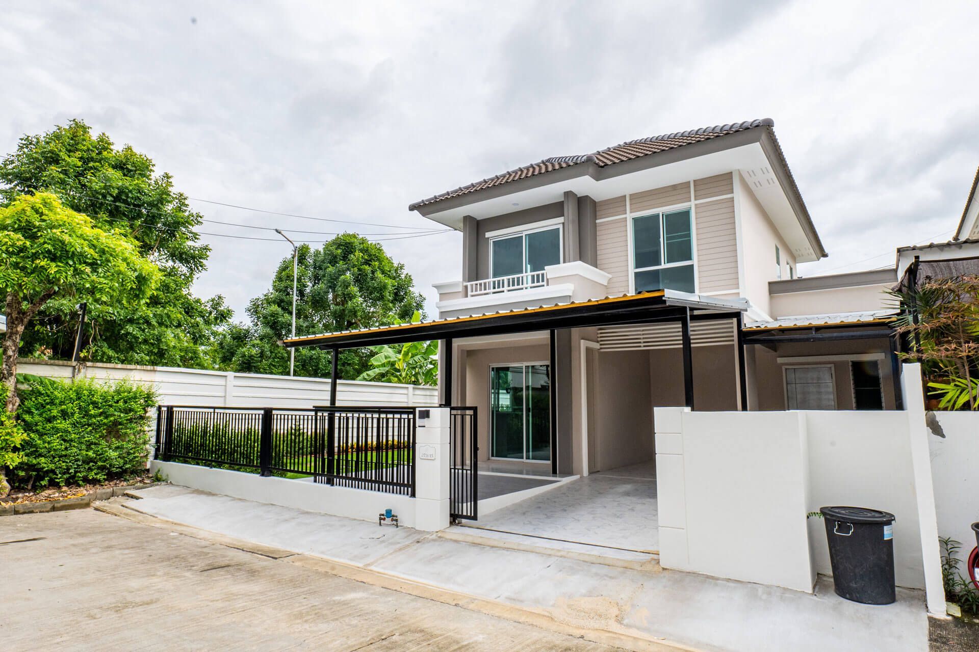
[[[89,301],[135,307],[153,293],[156,265],[124,233],[104,231],[57,196],[20,196],[0,208],[0,291],[6,295],[7,332],[0,383],[5,409],[17,412],[17,358],[30,320],[48,302]],[[9,491],[0,471],[0,496]]]

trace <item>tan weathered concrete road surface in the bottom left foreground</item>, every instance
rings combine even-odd
[[[376,526],[375,526],[376,528]],[[5,650],[611,650],[91,509],[0,519]]]

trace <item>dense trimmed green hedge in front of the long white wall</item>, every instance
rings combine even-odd
[[[146,467],[150,409],[156,392],[131,382],[64,382],[22,376],[18,423],[21,486],[82,484],[137,473]]]

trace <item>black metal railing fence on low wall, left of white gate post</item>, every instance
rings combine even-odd
[[[415,495],[413,408],[160,406],[156,457]]]

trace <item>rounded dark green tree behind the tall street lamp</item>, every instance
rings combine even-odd
[[[384,248],[355,234],[342,234],[321,249],[301,244],[298,251],[296,332],[311,335],[336,330],[384,326],[421,315],[424,299],[414,291],[404,265]],[[219,344],[224,369],[253,373],[288,373],[289,351],[278,344],[292,328],[293,257],[283,258],[272,287],[248,307],[249,325],[226,328]],[[340,375],[356,378],[370,368],[374,352],[341,353]],[[300,348],[296,375],[325,377],[331,372],[329,351]]]

